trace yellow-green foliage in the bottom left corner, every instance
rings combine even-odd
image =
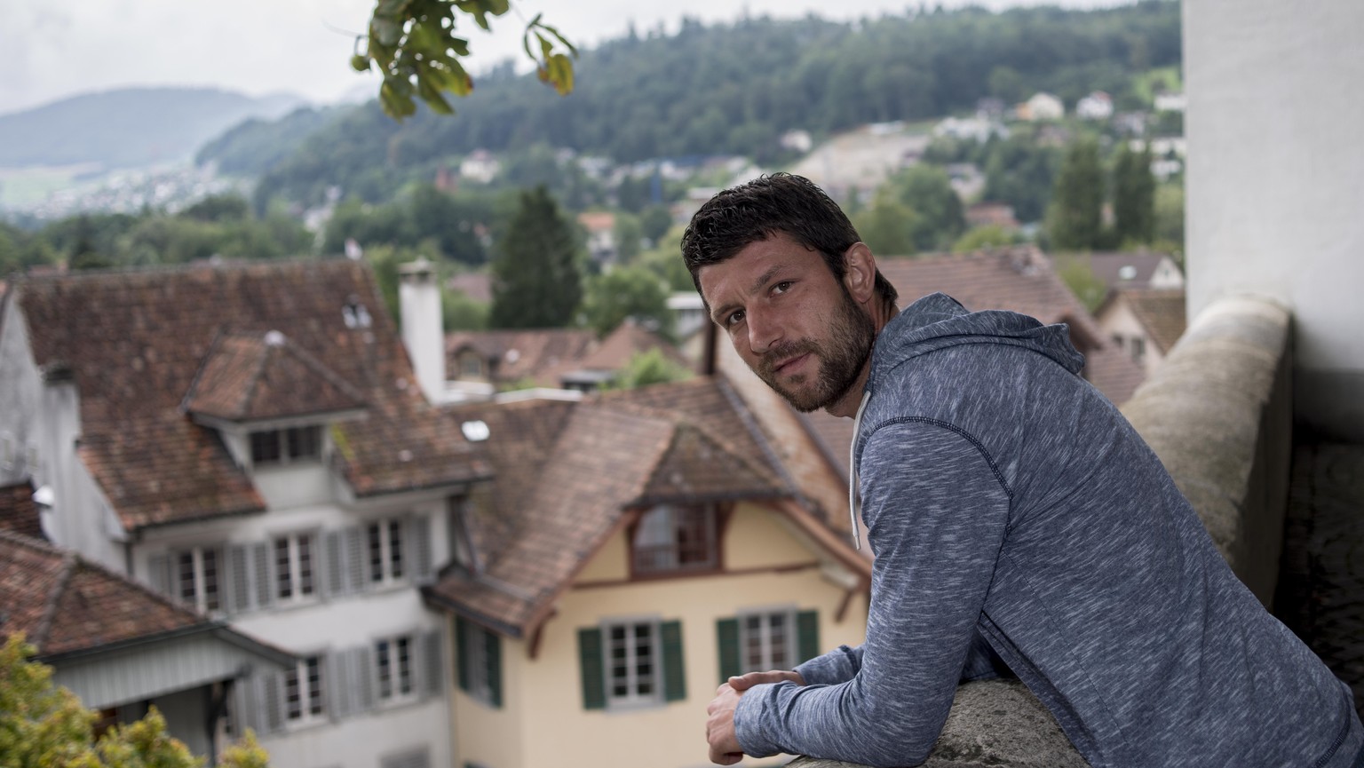
[[[201,768],[203,758],[166,734],[153,707],[134,723],[95,739],[97,713],[52,683],[52,667],[33,662],[22,633],[0,647],[0,765],[7,768]],[[269,756],[247,731],[222,752],[218,768],[267,768]]]

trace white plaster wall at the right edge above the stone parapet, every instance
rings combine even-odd
[[[1294,312],[1300,416],[1364,438],[1364,3],[1184,3],[1188,310]]]

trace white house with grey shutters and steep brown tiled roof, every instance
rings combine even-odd
[[[490,473],[355,262],[23,278],[0,431],[52,542],[293,655],[224,703],[299,768],[449,765],[419,587]],[[11,468],[11,475],[20,468]]]

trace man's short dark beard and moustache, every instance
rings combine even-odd
[[[824,338],[786,341],[768,349],[753,372],[792,408],[809,413],[837,402],[853,389],[853,383],[872,356],[876,326],[872,318],[857,306],[847,288],[843,288],[843,300],[835,316],[829,318],[829,333]],[[780,383],[773,367],[782,360],[806,353],[820,363],[818,371],[813,374],[814,381],[807,382],[812,374],[798,374],[791,376],[788,383]]]

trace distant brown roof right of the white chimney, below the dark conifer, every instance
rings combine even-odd
[[[585,329],[454,331],[445,337],[446,370],[458,371],[460,352],[473,349],[490,363],[495,383],[529,379],[557,387],[559,371],[573,368],[595,344]]]

